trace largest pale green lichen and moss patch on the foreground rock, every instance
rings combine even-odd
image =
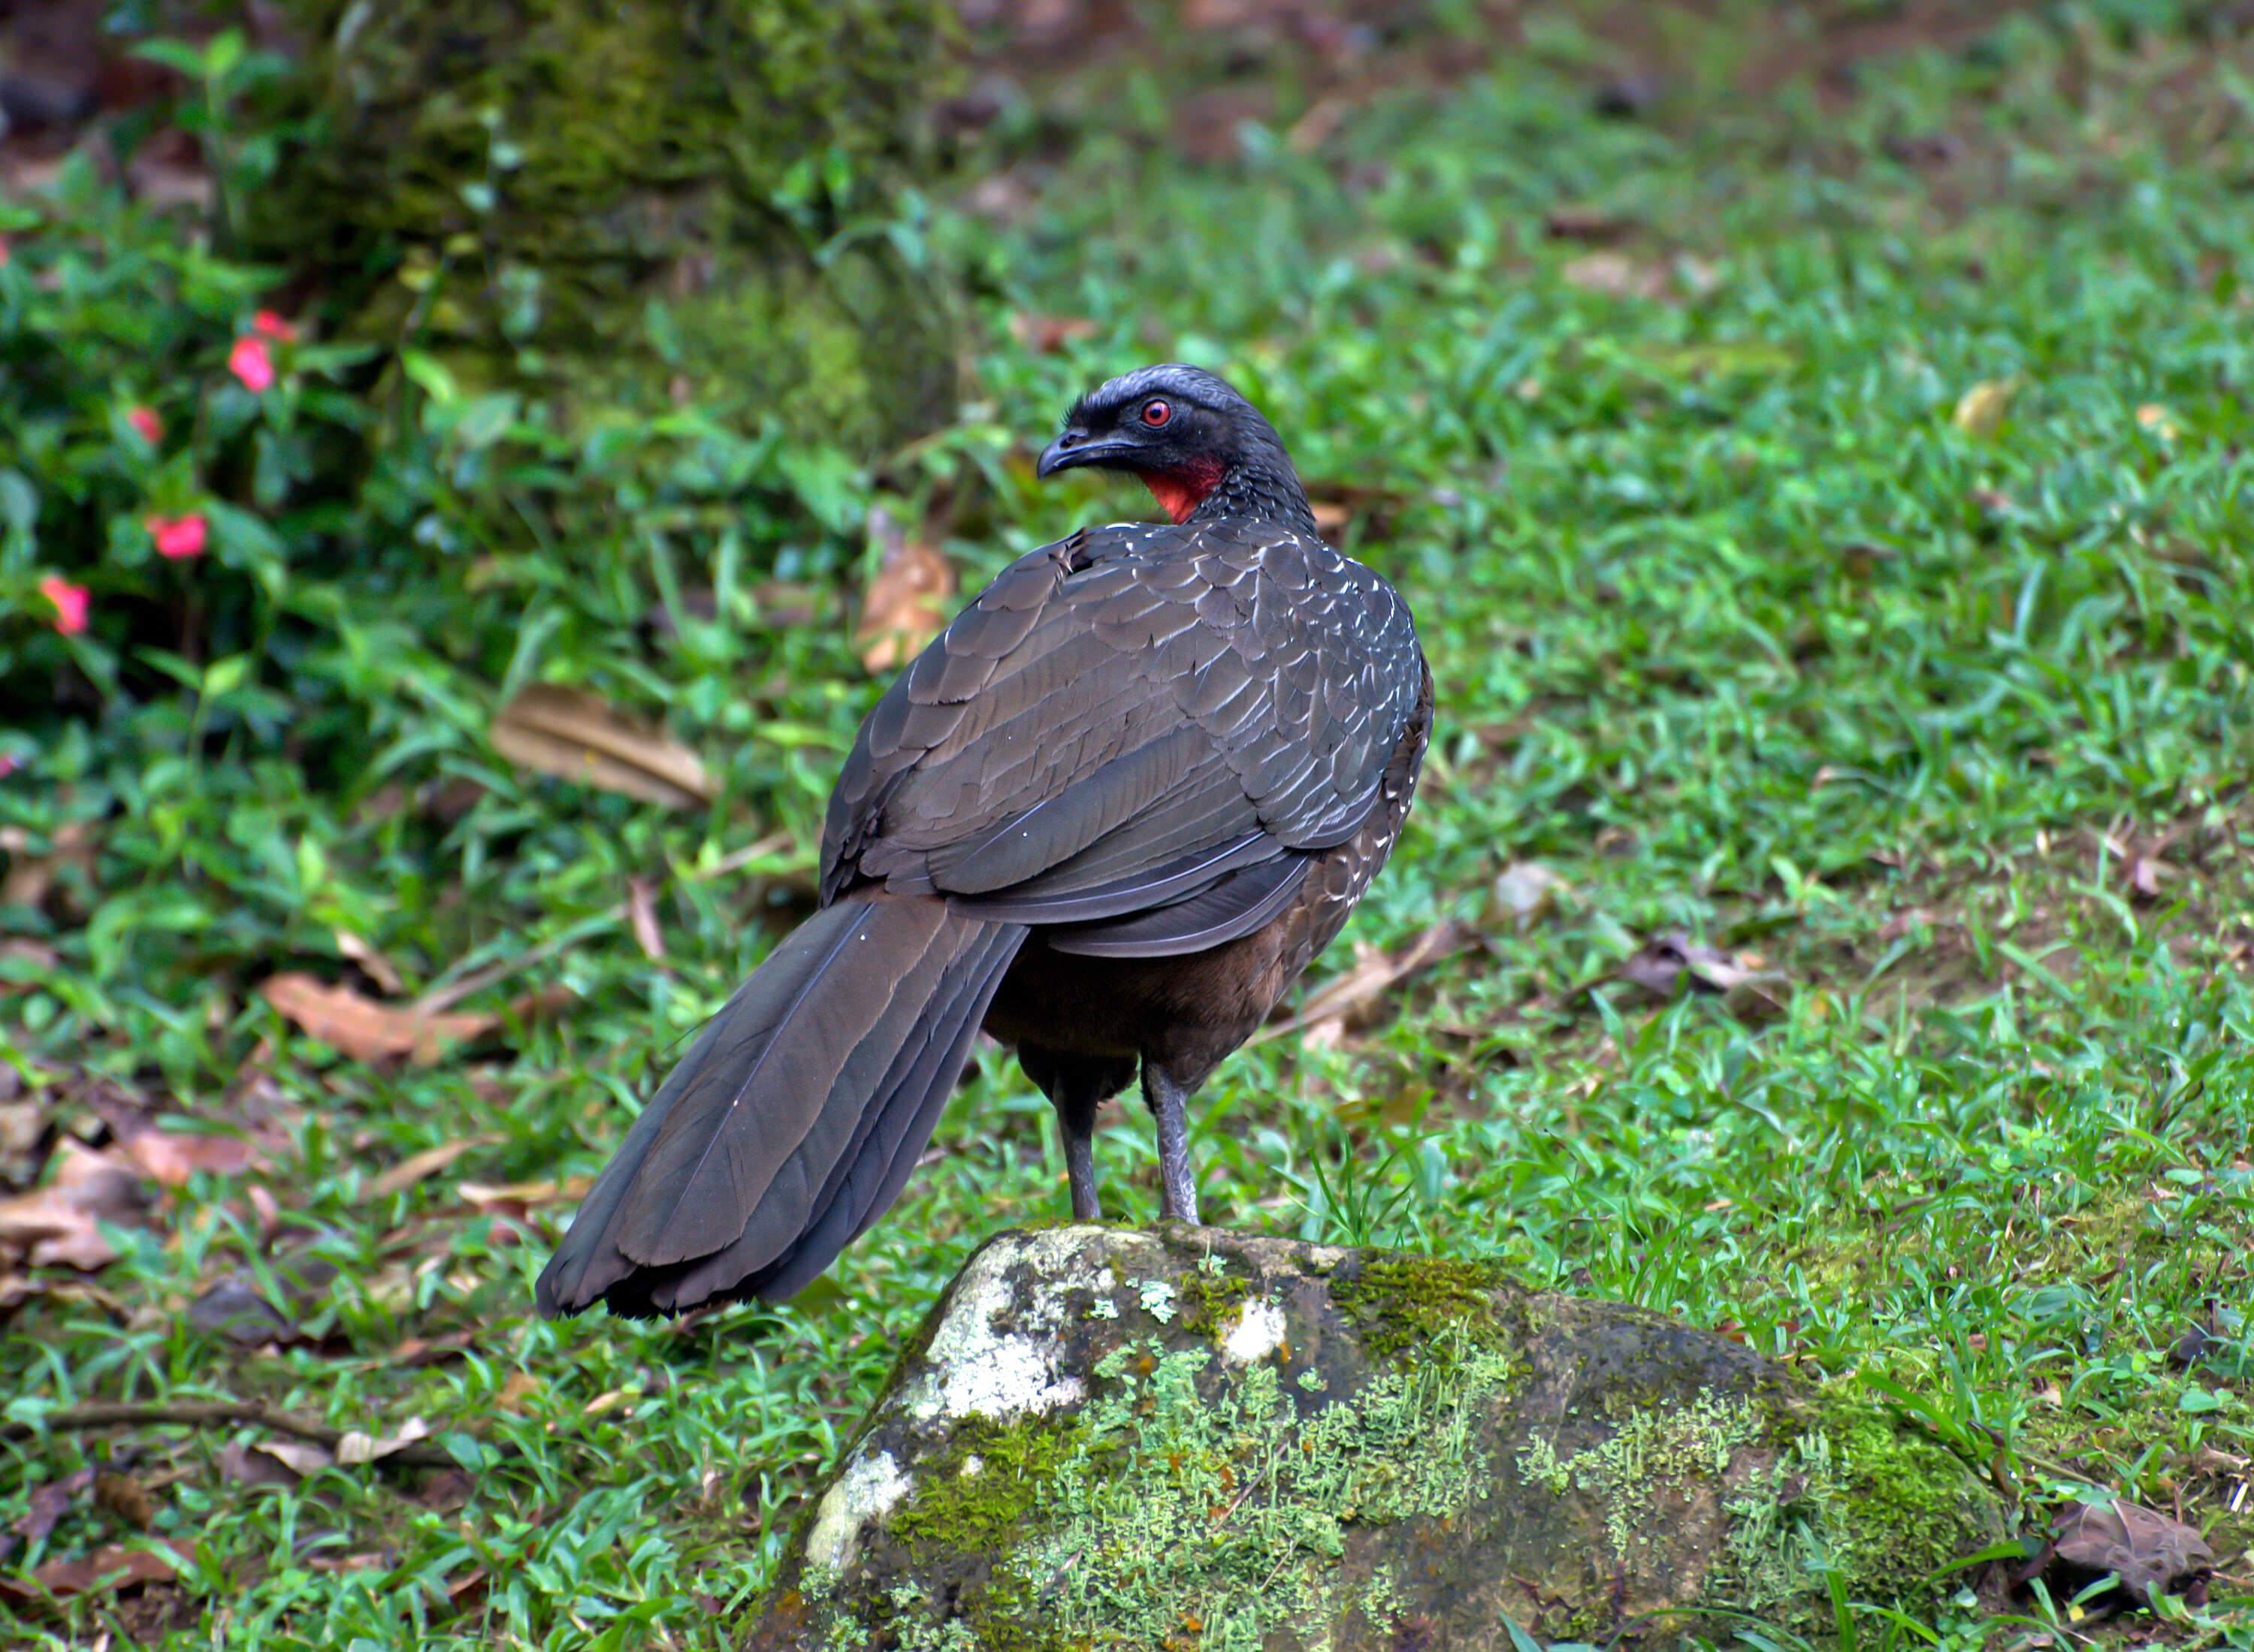
[[[1388,1623],[1395,1580],[1348,1564],[1350,1530],[1470,1508],[1490,1474],[1483,1402],[1512,1377],[1463,1330],[1436,1352],[1303,1413],[1274,1361],[1237,1370],[1204,1348],[1118,1348],[1073,1420],[967,1424],[890,1519],[917,1562],[992,1557],[956,1593],[956,1620],[922,1600],[872,1600],[838,1607],[829,1641],[861,1645],[881,1625],[933,1652],[1255,1652],[1278,1629],[1355,1611]]]

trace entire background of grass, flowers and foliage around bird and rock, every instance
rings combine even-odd
[[[1887,1384],[2254,1645],[2254,9],[464,18],[0,18],[0,1620],[726,1643],[1046,1104],[985,1053],[782,1312],[530,1276],[890,667],[1147,514],[1035,489],[1071,394],[1183,358],[1440,681],[1208,1210]]]

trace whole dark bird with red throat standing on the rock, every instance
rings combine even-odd
[[[1409,604],[1332,550],[1274,426],[1161,363],[1035,464],[1165,523],[1005,566],[886,687],[823,820],[818,908],[699,1032],[539,1276],[543,1316],[784,1300],[899,1197],[983,1028],[1100,1219],[1098,1109],[1141,1077],[1161,1219],[1188,1102],[1386,863],[1431,735]]]

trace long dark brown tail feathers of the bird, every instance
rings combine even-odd
[[[746,980],[541,1271],[543,1314],[782,1300],[899,1197],[1023,924],[843,899]]]

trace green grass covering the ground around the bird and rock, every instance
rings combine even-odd
[[[2038,7],[1864,63],[1848,97],[1747,99],[1742,32],[1681,23],[1675,90],[1623,122],[1589,106],[1612,36],[1569,7],[1535,23],[1492,70],[1379,88],[1312,146],[1287,133],[1319,92],[1283,63],[1271,119],[1217,165],[1172,153],[1172,88],[1100,63],[990,135],[1008,221],[926,225],[994,338],[1010,313],[1093,322],[1057,356],[990,349],[980,403],[890,467],[908,498],[958,500],[965,584],[1145,514],[1035,489],[1030,451],[1073,390],[1201,361],[1319,494],[1361,489],[1346,543],[1406,590],[1440,683],[1411,832],[1348,933],[1454,917],[1485,944],[1382,1025],[1224,1066],[1192,1136],[1208,1219],[1503,1258],[1891,1384],[2002,1454],[2031,1524],[2074,1485],[2182,1510],[2222,1578],[2157,1632],[2254,1645],[2254,43],[2157,5]],[[1551,234],[1567,210],[1605,243]],[[870,478],[823,476],[850,521]],[[660,561],[541,595],[527,633],[609,647],[665,593]],[[611,629],[573,620],[591,611]],[[1064,1210],[1046,1104],[985,1053],[902,1204],[798,1303],[534,1321],[568,1201],[460,1183],[600,1165],[780,933],[762,913],[802,899],[875,683],[843,622],[694,622],[654,663],[591,658],[728,769],[730,802],[681,820],[509,773],[476,741],[487,687],[440,656],[370,784],[473,773],[489,796],[458,825],[214,787],[210,814],[115,829],[72,978],[7,998],[20,1066],[83,1062],[284,1147],[250,1179],[198,1172],[108,1269],[23,1303],[0,1393],[27,1424],[88,1397],[424,1418],[460,1472],[250,1485],[225,1429],[16,1440],[0,1521],[104,1463],[194,1553],[137,1602],[18,1602],[27,1643],[724,1645],[967,1251]],[[748,883],[667,883],[663,967],[604,917],[629,877],[766,825],[796,847]],[[1521,922],[1492,883],[1528,861],[1564,888]],[[354,929],[433,978],[568,938],[509,989],[577,1007],[500,1053],[338,1059],[162,947],[169,904],[246,863],[268,883],[232,958],[286,967]],[[1783,1012],[1603,985],[1670,929],[1758,951]],[[167,967],[137,967],[151,947]],[[1341,942],[1319,974],[1343,962]],[[1109,1122],[1111,1208],[1154,1217],[1147,1120]],[[376,1181],[446,1143],[473,1145]],[[338,1269],[302,1341],[196,1330],[201,1289],[291,1246]],[[81,1496],[9,1564],[122,1539]]]

